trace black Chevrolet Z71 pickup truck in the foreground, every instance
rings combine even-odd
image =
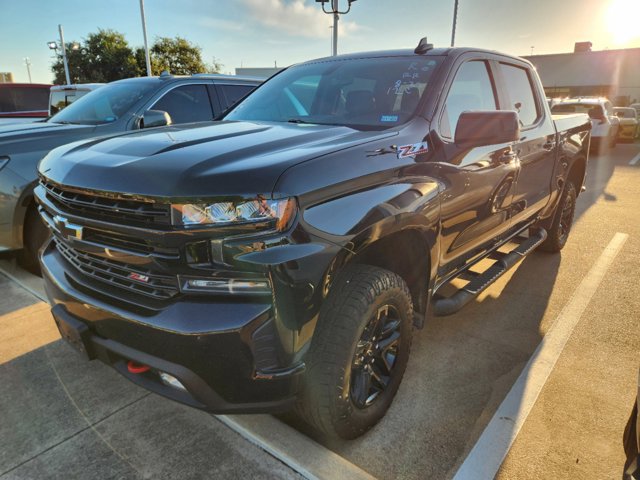
[[[554,122],[530,63],[423,39],[290,67],[220,122],[60,147],[35,192],[53,316],[159,394],[356,437],[414,326],[562,249],[590,128]]]

